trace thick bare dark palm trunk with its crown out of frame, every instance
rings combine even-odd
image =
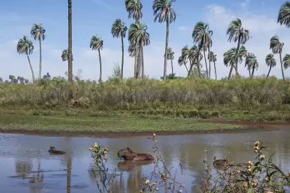
[[[72,82],[72,0],[68,0],[68,81]]]

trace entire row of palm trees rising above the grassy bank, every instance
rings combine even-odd
[[[168,47],[168,34],[169,26],[176,19],[175,10],[173,10],[173,3],[175,0],[154,0],[153,1],[153,12],[155,15],[154,21],[160,23],[166,22],[166,43],[164,51],[164,77],[166,79],[166,68],[167,60],[171,60],[171,73],[173,74],[173,59],[174,54],[172,48]],[[121,68],[121,79],[123,79],[124,73],[124,39],[126,38],[126,32],[128,30],[128,41],[130,45],[128,46],[129,57],[135,58],[134,65],[134,77],[140,79],[144,77],[144,49],[143,47],[150,44],[150,34],[147,32],[147,26],[141,21],[142,13],[142,2],[141,0],[126,0],[125,7],[128,12],[128,18],[133,18],[135,21],[131,24],[129,30],[125,23],[121,19],[116,19],[113,22],[111,28],[111,34],[113,38],[121,38],[122,40],[122,68]],[[280,25],[285,25],[287,28],[290,26],[290,1],[286,1],[282,4],[279,14],[278,23]],[[33,24],[30,31],[33,39],[39,41],[39,79],[41,79],[41,41],[46,37],[46,30],[43,28],[42,24]],[[237,43],[237,47],[233,47],[226,52],[224,52],[224,65],[231,67],[229,71],[228,79],[231,78],[233,69],[235,69],[235,74],[238,75],[238,63],[242,63],[243,59],[245,63],[245,68],[249,70],[249,77],[253,77],[254,71],[258,69],[258,60],[255,54],[247,52],[244,44],[250,39],[250,32],[242,26],[242,21],[240,19],[234,19],[229,24],[229,28],[226,30],[226,34],[229,36],[228,41]],[[209,30],[209,25],[202,21],[196,23],[193,30],[192,38],[194,45],[189,47],[184,46],[181,50],[181,56],[178,58],[178,65],[184,65],[188,76],[191,75],[194,70],[197,71],[199,77],[201,77],[201,61],[204,59],[206,67],[206,78],[211,79],[211,63],[213,62],[215,70],[215,79],[217,79],[215,62],[217,61],[216,54],[211,51],[213,31]],[[101,50],[103,48],[104,41],[99,35],[94,35],[90,39],[90,48],[92,50],[97,50],[99,54],[99,82],[101,82]],[[273,54],[279,54],[280,64],[282,70],[282,77],[284,79],[284,70],[290,66],[290,54],[285,54],[282,59],[282,50],[284,43],[282,43],[277,35],[273,36],[270,40],[271,54],[267,54],[265,59],[266,64],[269,66],[269,72],[267,77],[271,72],[271,68],[276,66],[276,59],[274,59]],[[34,46],[32,41],[28,37],[24,36],[23,39],[19,39],[17,43],[17,52],[19,54],[26,54],[28,58],[28,63],[30,64],[30,69],[32,72],[32,80],[35,81],[35,75],[32,69],[29,55],[32,54]],[[207,52],[207,53],[206,53]],[[61,59],[63,61],[68,61],[68,80],[72,81],[72,0],[68,0],[68,49],[64,50],[61,54]],[[209,61],[209,68],[207,65],[207,60]],[[186,65],[189,62],[189,68]]]

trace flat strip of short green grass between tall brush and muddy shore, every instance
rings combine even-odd
[[[0,114],[0,132],[46,135],[128,136],[157,134],[188,134],[209,132],[244,132],[262,130],[259,125],[207,123],[200,119],[161,116],[87,116],[41,115],[29,112]]]

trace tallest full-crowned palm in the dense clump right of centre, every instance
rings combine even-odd
[[[201,50],[204,51],[204,62],[206,64],[206,77],[209,78],[209,70],[206,63],[206,49],[211,47],[211,35],[213,31],[209,30],[209,25],[202,21],[196,23],[193,29],[193,43],[197,43]],[[210,49],[209,49],[210,52]],[[209,57],[209,56],[208,56]]]

